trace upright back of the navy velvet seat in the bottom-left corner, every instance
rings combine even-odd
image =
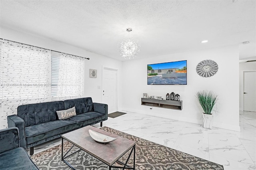
[[[20,147],[19,129],[17,127],[0,130],[0,153]]]

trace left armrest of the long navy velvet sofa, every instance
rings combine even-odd
[[[10,115],[7,117],[8,127],[17,127],[20,133],[20,146],[24,149],[27,148],[26,145],[26,133],[25,133],[25,123],[24,120],[17,115]]]

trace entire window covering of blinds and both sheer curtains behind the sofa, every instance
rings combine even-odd
[[[0,40],[0,129],[19,105],[83,96],[84,58]]]

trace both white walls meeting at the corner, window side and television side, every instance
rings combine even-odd
[[[89,57],[85,64],[84,96],[92,97],[94,102],[102,101],[102,67],[118,69],[118,110],[137,111],[160,117],[202,124],[202,109],[195,98],[196,91],[212,90],[219,94],[218,115],[214,115],[215,127],[240,130],[239,127],[239,59],[238,46],[227,46],[218,49],[190,51],[162,55],[147,59],[118,61],[109,57],[88,52],[65,43],[1,28],[1,38],[55,51]],[[196,73],[196,65],[212,59],[219,65],[213,77],[201,77]],[[188,85],[147,85],[147,64],[187,60]],[[98,77],[89,78],[89,69],[97,69]],[[125,78],[122,78],[125,77]],[[163,109],[142,106],[140,98],[143,93],[165,97],[166,93],[179,93],[183,100],[183,110]]]

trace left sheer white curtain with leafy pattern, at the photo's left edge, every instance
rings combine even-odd
[[[0,128],[18,105],[51,101],[51,51],[0,40]]]

